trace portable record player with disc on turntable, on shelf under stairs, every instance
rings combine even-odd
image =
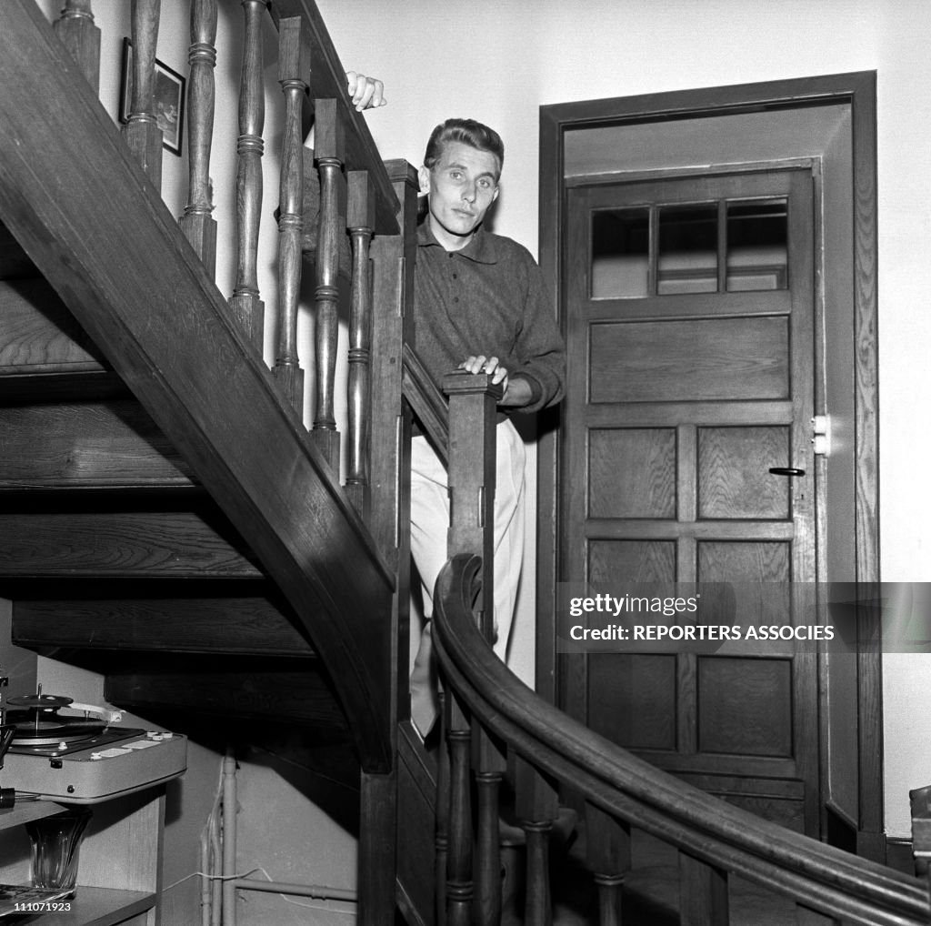
[[[76,704],[41,688],[7,704],[9,747],[0,784],[18,797],[94,804],[167,782],[187,767],[185,737],[123,727],[118,711]]]

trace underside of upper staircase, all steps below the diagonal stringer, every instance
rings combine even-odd
[[[0,570],[15,642],[100,667],[108,698],[137,713],[292,717],[346,735],[247,541],[8,232],[5,245]]]

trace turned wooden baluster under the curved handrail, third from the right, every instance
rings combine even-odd
[[[527,839],[524,922],[526,926],[550,926],[549,835],[559,810],[556,788],[521,757],[515,772],[518,820]]]

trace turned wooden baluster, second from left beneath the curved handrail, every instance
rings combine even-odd
[[[446,877],[446,926],[472,923],[472,798],[469,753],[472,735],[465,711],[452,691],[445,701],[450,751],[450,839]]]

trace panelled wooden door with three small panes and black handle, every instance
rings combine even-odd
[[[582,185],[567,205],[561,579],[734,583],[722,622],[816,622],[798,593],[816,579],[811,171]],[[562,669],[592,729],[817,833],[811,644]]]

